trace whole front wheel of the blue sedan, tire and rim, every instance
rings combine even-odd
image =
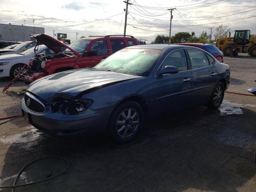
[[[120,144],[128,143],[138,136],[143,121],[144,113],[141,106],[133,101],[124,102],[114,110],[110,117],[110,135]]]

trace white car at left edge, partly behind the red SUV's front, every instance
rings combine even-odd
[[[54,52],[45,45],[39,45],[36,54],[52,55]],[[20,53],[0,56],[0,77],[15,78],[24,64],[28,64],[31,58],[35,56],[34,47]]]

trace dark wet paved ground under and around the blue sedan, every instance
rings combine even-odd
[[[229,90],[256,86],[256,59],[224,62],[231,66]],[[0,88],[8,81],[0,78]],[[24,88],[18,82],[0,93],[0,117],[20,114],[22,96],[14,92]],[[18,118],[0,125],[0,184],[12,184],[30,160],[58,155],[70,162],[65,174],[16,192],[255,192],[256,97],[226,93],[224,99],[219,110],[196,106],[150,120],[126,146],[105,137],[52,138]],[[56,174],[64,165],[53,159],[31,165],[18,183]]]

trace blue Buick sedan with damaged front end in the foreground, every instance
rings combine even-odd
[[[94,68],[36,80],[26,89],[22,114],[53,136],[108,133],[125,143],[146,119],[196,104],[218,108],[229,84],[230,67],[200,48],[132,46]]]

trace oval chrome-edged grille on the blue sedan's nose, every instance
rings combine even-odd
[[[45,112],[45,106],[44,104],[38,100],[35,96],[32,94],[26,92],[24,95],[24,101],[26,107],[35,113],[44,113]]]

